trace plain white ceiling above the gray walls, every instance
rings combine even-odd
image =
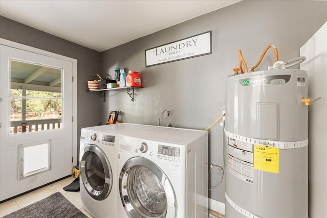
[[[102,52],[236,2],[0,0],[0,15]]]

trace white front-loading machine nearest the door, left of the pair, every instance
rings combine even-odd
[[[112,124],[83,128],[80,143],[80,193],[83,207],[94,217],[118,217],[118,142],[122,133],[154,126]]]

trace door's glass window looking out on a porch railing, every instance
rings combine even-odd
[[[10,134],[59,129],[62,69],[10,60]]]

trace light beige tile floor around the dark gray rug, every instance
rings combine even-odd
[[[88,217],[93,217],[90,215],[82,206],[80,192],[65,191],[62,188],[71,184],[75,178],[68,177],[58,182],[52,183],[50,185],[44,186],[42,188],[31,191],[25,195],[19,196],[12,200],[6,201],[0,204],[0,217],[3,217],[9,213],[12,213],[20,208],[26,207],[33,204],[39,200],[42,200],[48,196],[51,196],[55,192],[61,192],[62,195],[75,205],[80,211],[82,211]]]

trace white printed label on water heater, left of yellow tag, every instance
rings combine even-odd
[[[228,138],[228,172],[253,184],[253,144]]]

